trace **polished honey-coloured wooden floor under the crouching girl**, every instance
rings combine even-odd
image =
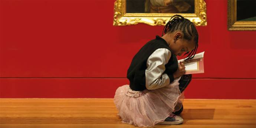
[[[135,128],[116,114],[113,99],[0,99],[0,128]],[[181,116],[155,128],[256,128],[256,100],[185,99]]]

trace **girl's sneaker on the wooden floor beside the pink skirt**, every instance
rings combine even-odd
[[[157,124],[168,124],[168,125],[174,125],[174,124],[182,124],[183,118],[181,118],[178,115],[170,114],[163,122],[159,122]]]

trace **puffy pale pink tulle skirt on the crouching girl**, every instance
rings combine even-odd
[[[178,87],[180,78],[155,90],[133,91],[129,85],[118,87],[114,96],[117,115],[126,124],[154,127],[172,112],[180,110],[184,98]]]

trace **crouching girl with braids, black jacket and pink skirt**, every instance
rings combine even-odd
[[[165,35],[163,35],[165,33]],[[191,81],[176,56],[192,59],[198,47],[198,33],[190,20],[174,15],[162,37],[145,44],[132,59],[127,72],[129,85],[116,89],[114,103],[122,122],[139,127],[181,124],[183,91]]]

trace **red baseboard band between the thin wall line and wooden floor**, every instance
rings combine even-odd
[[[1,78],[0,98],[114,98],[125,78]],[[256,99],[256,79],[195,78],[186,98]]]

